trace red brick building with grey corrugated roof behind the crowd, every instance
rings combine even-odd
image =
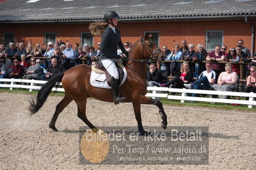
[[[89,43],[96,47],[100,37],[89,33],[89,23],[102,21],[108,10],[121,18],[123,42],[135,43],[146,32],[154,41],[170,49],[180,40],[228,49],[243,39],[255,51],[256,1],[174,0],[174,1],[82,1],[82,0],[4,0],[0,1],[0,43],[56,42]]]

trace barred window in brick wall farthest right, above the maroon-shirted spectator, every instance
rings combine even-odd
[[[223,31],[206,31],[206,50],[214,50],[216,45],[223,45]]]

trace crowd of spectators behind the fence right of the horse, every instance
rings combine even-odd
[[[246,92],[255,93],[256,84],[256,52],[251,56],[250,50],[243,46],[243,40],[238,40],[236,47],[227,50],[226,45],[216,45],[209,53],[203,44],[199,43],[194,50],[194,44],[187,46],[187,41],[182,40],[181,46],[175,44],[173,49],[163,45],[162,51],[166,54],[166,61],[159,66],[149,65],[147,73],[148,86],[188,88],[188,89],[212,89],[216,91],[234,91],[239,89],[240,65],[246,79]],[[182,62],[176,62],[181,60]],[[204,62],[203,62],[204,61]],[[228,63],[219,63],[227,61]],[[230,61],[235,63],[230,63]],[[153,69],[152,69],[153,68]],[[162,73],[162,75],[160,75]],[[255,74],[255,75],[254,75]],[[250,79],[250,81],[248,81]],[[196,97],[196,94],[192,94]],[[226,96],[219,96],[226,98]]]

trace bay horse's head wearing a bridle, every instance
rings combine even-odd
[[[162,50],[160,50],[157,45],[152,42],[151,35],[146,34],[144,38],[141,38],[141,43],[144,49],[144,59],[150,59],[152,62],[158,61],[159,63],[162,63],[162,61],[164,61],[166,55],[164,55],[164,52],[162,52]]]

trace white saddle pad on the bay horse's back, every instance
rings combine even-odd
[[[124,81],[126,80],[127,77],[127,72],[126,69],[123,68],[124,71],[124,76],[121,84],[119,85],[122,86]],[[90,84],[96,88],[105,88],[105,89],[111,89],[110,86],[108,86],[107,81],[106,81],[106,75],[105,73],[96,73],[96,72],[90,72]]]

